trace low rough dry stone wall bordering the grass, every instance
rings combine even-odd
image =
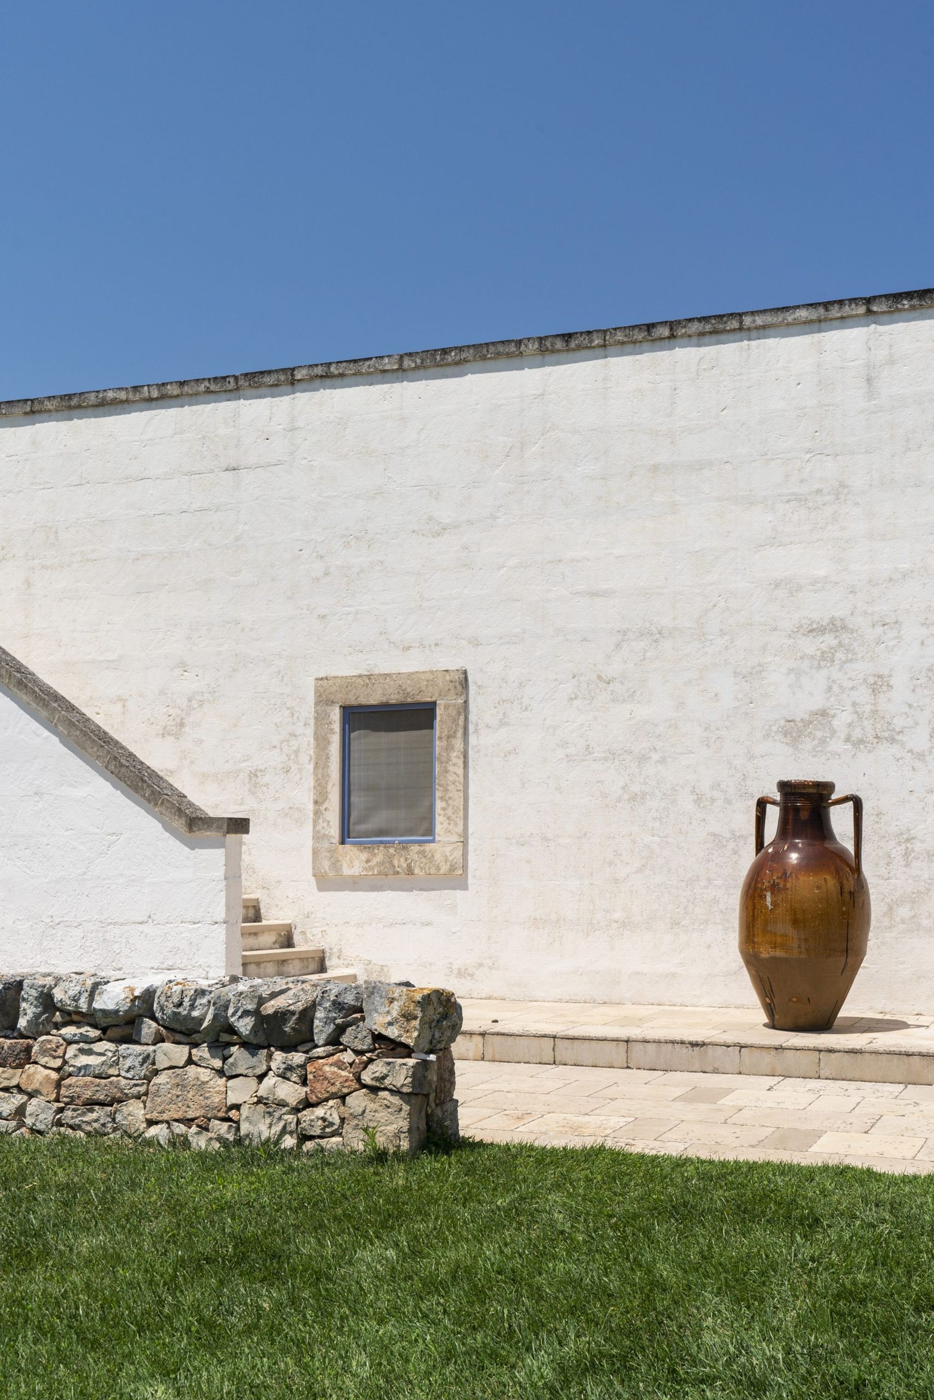
[[[0,977],[0,1134],[414,1154],[458,1138],[454,993]]]

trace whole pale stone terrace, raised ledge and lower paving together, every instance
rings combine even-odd
[[[461,1127],[492,1142],[934,1170],[934,1018],[465,1001]]]

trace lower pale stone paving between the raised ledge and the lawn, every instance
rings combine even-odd
[[[461,1130],[490,1142],[934,1170],[934,1086],[458,1061]]]

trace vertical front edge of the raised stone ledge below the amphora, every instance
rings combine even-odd
[[[885,1050],[877,1046],[815,1049],[814,1044],[756,1044],[728,1032],[693,1039],[678,1033],[601,1036],[597,1030],[583,1035],[580,1030],[480,1030],[465,1026],[454,1043],[454,1058],[934,1085],[934,1047]]]

